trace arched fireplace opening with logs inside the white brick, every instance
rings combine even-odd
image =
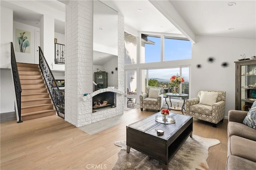
[[[103,92],[92,97],[92,109],[107,109],[116,107],[116,93]]]

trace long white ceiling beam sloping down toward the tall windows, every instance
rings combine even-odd
[[[193,44],[196,43],[195,33],[188,27],[174,6],[168,0],[149,0],[182,34],[184,34]]]

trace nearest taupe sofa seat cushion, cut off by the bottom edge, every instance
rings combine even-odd
[[[230,155],[228,156],[227,170],[255,170],[256,162],[240,158],[238,156]]]

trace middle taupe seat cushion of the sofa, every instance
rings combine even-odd
[[[235,155],[256,162],[256,141],[232,135],[228,138],[228,156]]]

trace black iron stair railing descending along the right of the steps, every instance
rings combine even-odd
[[[56,109],[58,116],[64,119],[65,109],[64,109],[64,98],[65,91],[60,89],[57,85],[57,82],[52,74],[52,71],[44,58],[44,53],[42,49],[39,47],[39,67],[41,69],[42,75],[44,77],[44,81],[49,90],[50,96],[52,98],[52,102]]]

